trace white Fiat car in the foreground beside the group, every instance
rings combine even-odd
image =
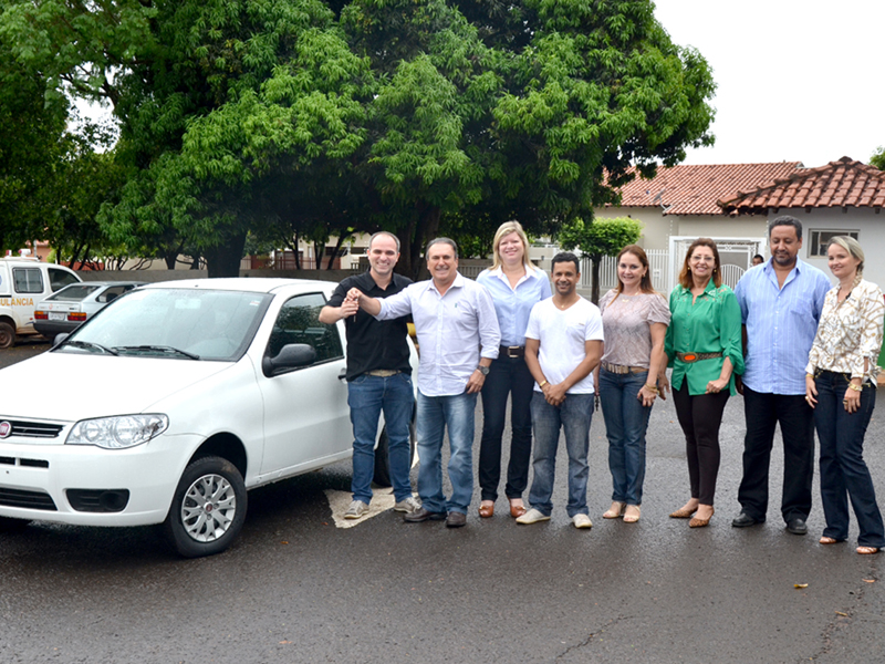
[[[334,288],[148,284],[2,370],[0,527],[164,523],[181,556],[223,551],[247,489],[352,456],[344,325],[317,320]],[[39,397],[48,376],[83,387]]]

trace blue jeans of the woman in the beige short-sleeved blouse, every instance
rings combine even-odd
[[[637,398],[648,372],[616,374],[600,370],[600,403],[608,437],[612,500],[643,504],[645,480],[645,432],[652,406]]]

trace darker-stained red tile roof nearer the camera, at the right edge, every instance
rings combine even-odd
[[[726,214],[766,214],[785,207],[871,207],[885,205],[885,172],[848,157],[803,168],[775,181],[723,196]]]

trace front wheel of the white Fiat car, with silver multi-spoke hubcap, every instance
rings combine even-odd
[[[166,538],[184,558],[221,553],[239,535],[246,508],[246,483],[237,467],[221,457],[200,457],[185,468],[175,489]]]

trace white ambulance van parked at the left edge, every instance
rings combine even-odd
[[[0,258],[0,349],[10,347],[17,335],[37,334],[37,305],[77,281],[82,281],[77,273],[63,266],[35,258]]]

